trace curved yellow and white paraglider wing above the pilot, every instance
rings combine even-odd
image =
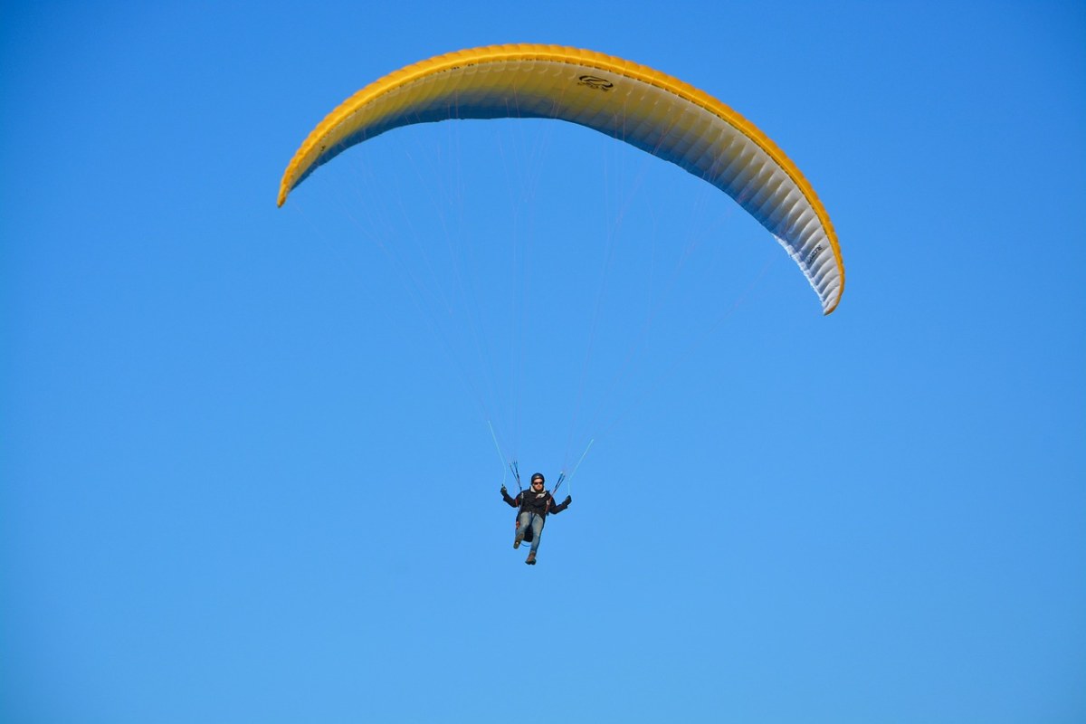
[[[475,48],[408,65],[363,88],[294,154],[279,205],[321,164],[387,130],[450,118],[554,118],[593,128],[721,189],[780,241],[824,314],[845,288],[830,217],[794,163],[754,124],[682,80],[560,46]]]

